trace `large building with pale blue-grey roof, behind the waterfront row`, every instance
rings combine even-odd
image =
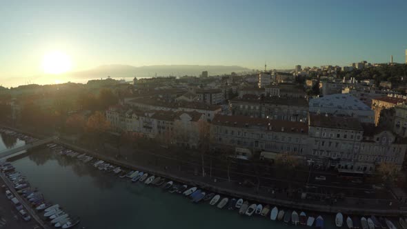
[[[375,112],[352,94],[330,94],[310,99],[311,113],[356,117],[362,123],[375,123]]]

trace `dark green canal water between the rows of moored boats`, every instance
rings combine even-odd
[[[0,150],[1,146],[0,142]],[[208,203],[195,204],[182,195],[119,179],[46,148],[12,164],[47,200],[81,217],[80,226],[86,228],[299,227],[265,217],[244,217],[237,210],[219,210]],[[335,228],[332,217],[324,219],[326,228]]]

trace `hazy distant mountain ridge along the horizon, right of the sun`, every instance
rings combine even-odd
[[[195,65],[170,65],[170,66],[126,66],[104,65],[80,72],[68,72],[66,77],[72,78],[113,78],[121,77],[178,77],[183,75],[199,76],[202,71],[208,71],[209,75],[230,74],[230,72],[249,72],[248,68],[240,66],[195,66]]]

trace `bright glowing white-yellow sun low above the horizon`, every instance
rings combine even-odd
[[[42,67],[46,74],[61,74],[72,68],[72,62],[68,54],[52,51],[43,56]]]

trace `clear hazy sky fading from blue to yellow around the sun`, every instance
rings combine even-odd
[[[404,62],[407,1],[7,1],[0,77],[41,74],[50,50],[72,70],[108,63],[261,69]],[[1,79],[1,78],[0,78]],[[1,83],[1,82],[0,82]]]

